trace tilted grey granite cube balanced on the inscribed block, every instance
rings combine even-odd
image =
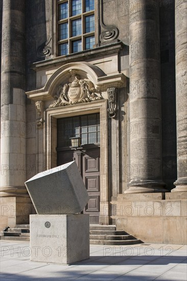
[[[75,161],[41,172],[25,184],[38,215],[76,214],[89,200]]]

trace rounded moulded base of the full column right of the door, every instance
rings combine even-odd
[[[154,192],[168,192],[165,189],[164,182],[154,180],[131,180],[128,184],[128,190],[124,193],[154,193]]]

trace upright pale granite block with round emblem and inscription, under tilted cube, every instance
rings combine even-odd
[[[72,264],[89,258],[89,215],[31,215],[31,261]]]

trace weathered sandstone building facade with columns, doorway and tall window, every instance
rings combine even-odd
[[[74,159],[90,223],[186,243],[186,1],[0,5],[1,230],[34,214],[26,180]]]

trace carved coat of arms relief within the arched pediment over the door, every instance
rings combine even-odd
[[[102,99],[95,93],[96,89],[93,83],[86,79],[80,79],[75,69],[69,71],[71,77],[69,83],[60,85],[57,89],[57,99],[49,107],[64,106]]]

